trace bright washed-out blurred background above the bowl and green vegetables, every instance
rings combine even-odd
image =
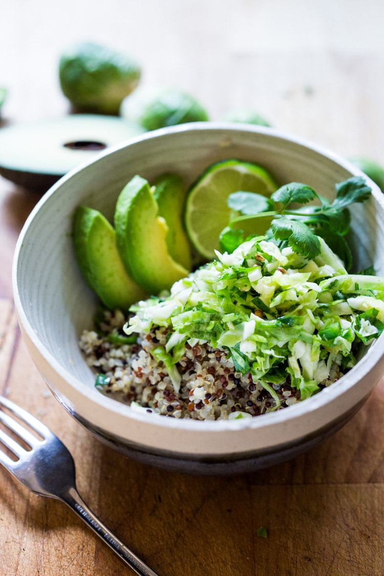
[[[212,120],[252,108],[340,154],[384,161],[379,0],[12,0],[1,20],[12,122],[67,113],[59,58],[90,40],[135,58],[140,86],[185,90]]]

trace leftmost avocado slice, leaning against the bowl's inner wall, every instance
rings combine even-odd
[[[115,230],[100,212],[77,208],[73,240],[84,279],[107,308],[127,312],[131,304],[147,297],[128,276],[117,251]]]

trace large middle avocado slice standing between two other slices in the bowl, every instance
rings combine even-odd
[[[157,295],[188,275],[168,252],[168,226],[147,180],[134,176],[120,192],[115,209],[116,243],[128,274]]]

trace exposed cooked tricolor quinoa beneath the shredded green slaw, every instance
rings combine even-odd
[[[134,344],[112,344],[108,334],[121,331],[126,318],[119,311],[105,313],[102,334],[84,331],[80,348],[92,369],[105,376],[105,393],[116,399],[132,402],[146,409],[173,418],[195,420],[223,420],[258,416],[276,410],[276,402],[250,373],[235,372],[227,351],[213,349],[207,343],[185,346],[185,354],[177,362],[181,375],[180,391],[174,390],[164,363],[157,361],[151,351],[165,345],[168,328],[153,328],[139,335]],[[123,334],[123,332],[121,332]],[[334,364],[330,377],[320,388],[329,386],[342,374]],[[300,400],[300,392],[290,385],[288,376],[281,384],[271,384],[280,400],[281,410]]]

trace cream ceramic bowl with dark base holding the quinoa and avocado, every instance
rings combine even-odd
[[[70,172],[43,196],[18,240],[14,301],[33,361],[62,406],[97,438],[129,457],[176,471],[246,472],[294,457],[340,429],[384,372],[384,334],[339,382],[295,406],[252,419],[200,422],[132,411],[102,395],[78,348],[92,328],[96,298],[75,262],[71,215],[78,204],[111,218],[117,195],[135,174],[149,181],[175,171],[191,184],[226,158],[266,166],[280,183],[301,181],[333,198],[334,184],[362,175],[347,161],[271,128],[195,123],[140,135]],[[384,196],[352,209],[356,270],[374,263],[384,275]]]

